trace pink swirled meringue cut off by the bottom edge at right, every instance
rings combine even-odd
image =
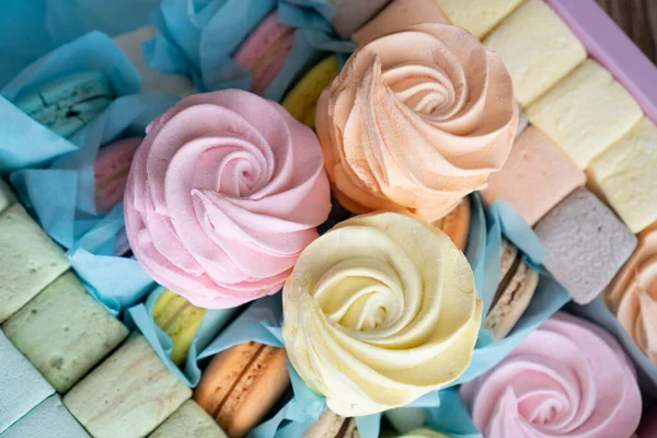
[[[561,312],[461,387],[461,395],[486,438],[630,437],[642,411],[634,370],[618,342]]]

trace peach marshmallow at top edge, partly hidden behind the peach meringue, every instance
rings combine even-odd
[[[360,27],[351,39],[361,46],[383,35],[422,23],[449,24],[450,22],[435,0],[394,0]]]

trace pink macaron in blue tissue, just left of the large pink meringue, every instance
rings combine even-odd
[[[130,137],[104,146],[99,151],[93,166],[96,210],[110,211],[123,200],[132,157],[139,145],[140,137]]]

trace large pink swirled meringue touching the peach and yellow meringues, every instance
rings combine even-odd
[[[125,199],[139,263],[205,308],[279,290],[331,209],[312,130],[239,90],[183,99],[155,119]]]

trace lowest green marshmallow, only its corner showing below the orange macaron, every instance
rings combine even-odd
[[[188,400],[149,438],[227,438],[215,419],[196,402]]]

